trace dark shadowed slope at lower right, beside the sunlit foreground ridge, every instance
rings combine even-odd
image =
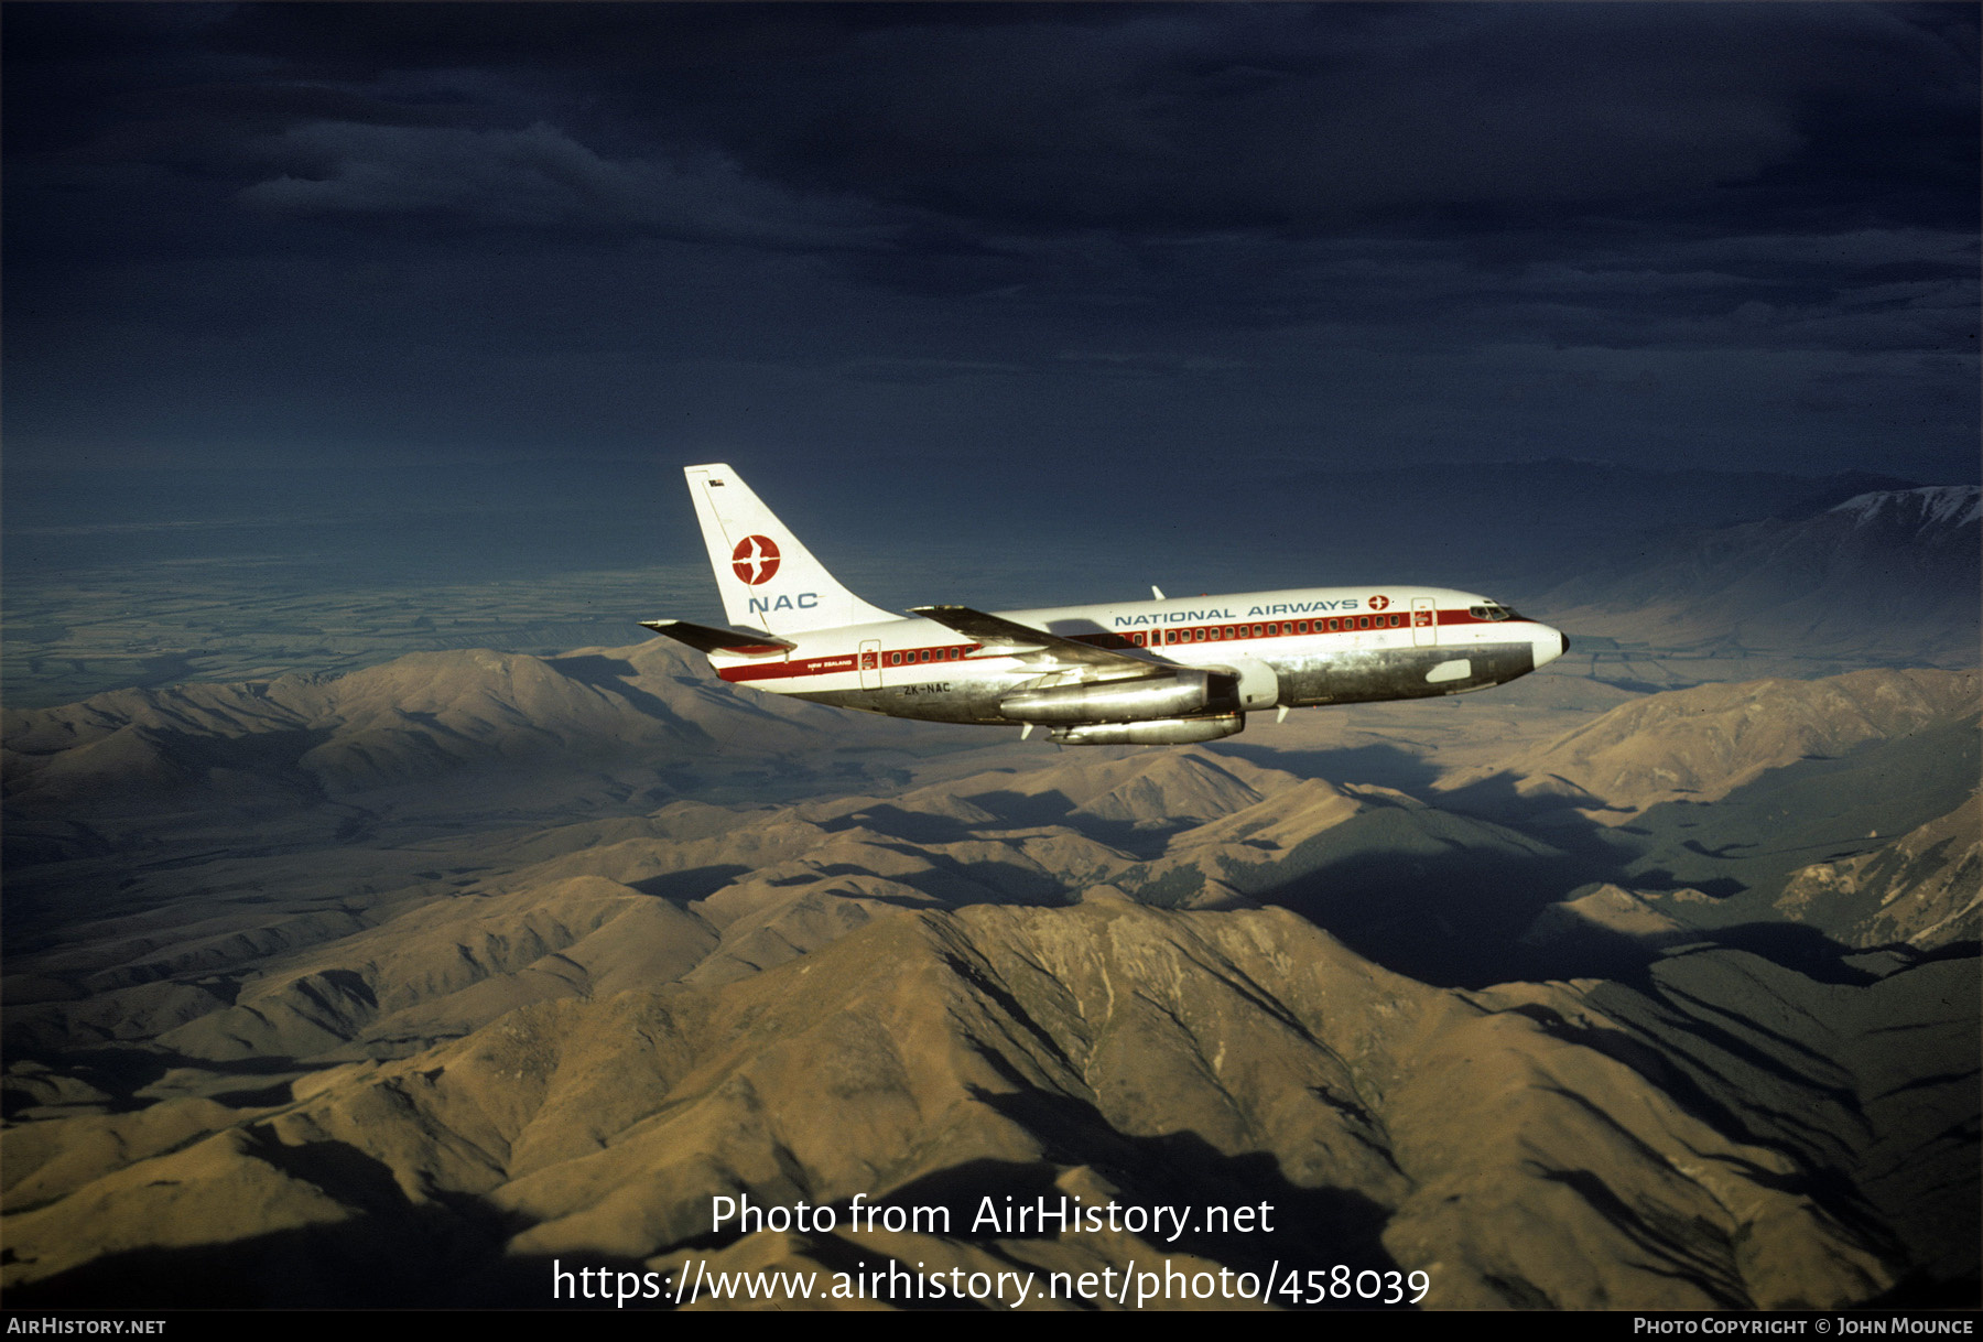
[[[1979,993],[1975,955],[1866,955],[1824,981],[1693,951],[1654,961],[1636,985],[1509,985],[1483,999],[1531,1001],[1559,1035],[1656,1068],[1662,1090],[1719,1132],[1832,1172],[1850,1193],[1828,1207],[1896,1237],[1918,1281],[1973,1281]]]

